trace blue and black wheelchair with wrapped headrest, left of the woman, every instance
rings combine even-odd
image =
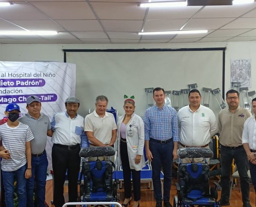
[[[113,147],[82,148],[79,156],[100,157],[115,155]],[[80,196],[82,202],[113,202],[117,200],[117,184],[113,181],[115,164],[111,160],[85,161],[82,165],[80,179]],[[83,177],[83,184],[82,184]]]

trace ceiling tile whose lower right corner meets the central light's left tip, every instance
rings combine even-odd
[[[101,20],[106,31],[139,32],[142,20]]]

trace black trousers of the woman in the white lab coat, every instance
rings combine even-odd
[[[134,169],[130,169],[129,157],[127,152],[127,144],[122,141],[120,142],[120,155],[121,155],[123,175],[124,175],[125,198],[131,197],[131,175],[132,175],[134,200],[139,201],[140,200],[140,170],[136,171]]]

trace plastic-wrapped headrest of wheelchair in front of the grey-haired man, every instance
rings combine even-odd
[[[115,149],[113,147],[85,147],[79,152],[80,157],[100,157],[113,155],[115,155]]]

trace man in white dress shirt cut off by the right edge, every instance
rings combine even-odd
[[[242,143],[249,160],[250,175],[256,193],[256,98],[252,100],[252,112],[254,115],[246,119],[244,124]]]

